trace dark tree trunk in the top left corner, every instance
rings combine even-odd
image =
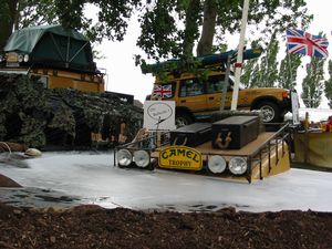
[[[2,18],[0,20],[0,52],[3,51],[3,46],[12,33],[18,1],[19,0],[4,0],[4,3],[2,3],[3,13],[1,13]]]

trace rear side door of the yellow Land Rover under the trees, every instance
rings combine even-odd
[[[197,77],[180,80],[177,106],[187,107],[193,113],[207,110],[205,82]]]

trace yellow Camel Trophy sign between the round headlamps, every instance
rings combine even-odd
[[[200,170],[201,154],[186,146],[169,146],[159,153],[159,167]]]

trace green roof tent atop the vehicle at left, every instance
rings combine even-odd
[[[15,31],[4,52],[29,55],[28,65],[95,71],[90,41],[75,30],[40,25]]]

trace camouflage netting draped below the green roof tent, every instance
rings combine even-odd
[[[45,90],[27,75],[0,73],[0,141],[29,147],[91,146],[92,133],[116,144],[121,124],[131,141],[143,110],[116,96],[75,90]]]

